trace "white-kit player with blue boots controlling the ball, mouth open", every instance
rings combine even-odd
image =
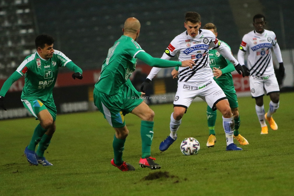
[[[242,150],[233,143],[234,119],[229,102],[223,90],[213,80],[213,74],[209,66],[209,47],[216,49],[221,55],[229,59],[239,72],[245,76],[245,72],[231,52],[217,40],[210,30],[199,29],[201,27],[200,15],[196,12],[187,12],[184,26],[185,32],[176,36],[162,55],[162,59],[170,59],[175,55],[179,61],[193,59],[195,66],[192,69],[178,69],[178,88],[174,99],[174,112],[170,116],[170,135],[161,142],[159,150],[165,151],[177,139],[177,130],[181,119],[186,113],[192,100],[200,97],[213,109],[218,109],[223,115],[223,127],[227,138],[226,150]],[[246,68],[244,66],[244,68]],[[160,68],[152,68],[150,74],[141,85],[144,92],[152,78]],[[246,68],[247,71],[247,68]]]

